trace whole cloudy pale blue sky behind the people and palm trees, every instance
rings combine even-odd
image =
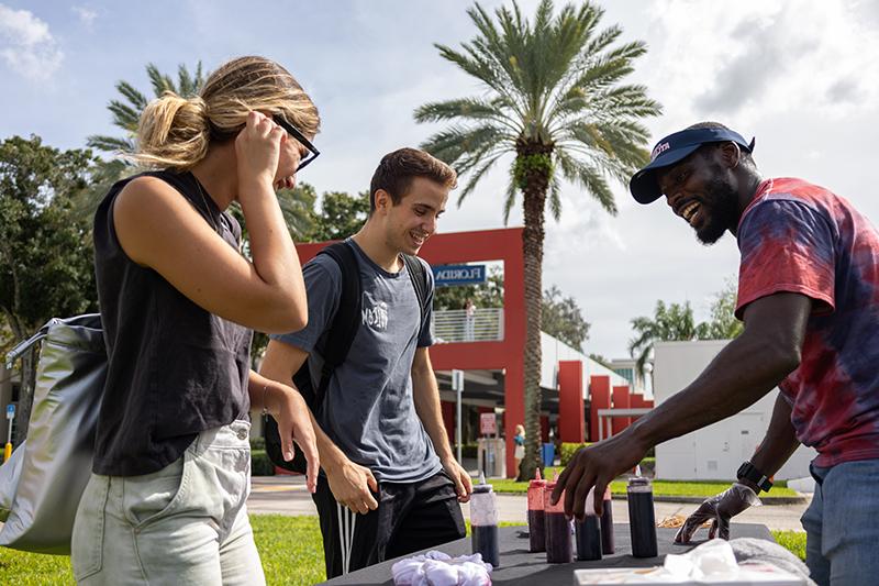
[[[491,0],[492,9],[511,5]],[[561,5],[563,2],[556,2]],[[437,125],[416,124],[429,101],[485,95],[438,56],[476,30],[470,2],[448,0],[57,2],[0,0],[0,140],[37,134],[59,148],[119,135],[107,104],[124,79],[151,95],[148,63],[166,73],[199,60],[210,70],[258,54],[286,66],[322,115],[321,157],[299,177],[319,192],[368,187],[379,158],[416,146]],[[536,0],[520,5],[532,14]],[[663,104],[645,121],[661,136],[714,120],[746,139],[765,177],[797,176],[847,198],[874,223],[879,197],[879,0],[775,2],[605,0],[602,27],[647,54],[627,82]],[[507,162],[509,167],[509,162]],[[439,230],[503,225],[504,166],[483,178]],[[574,297],[592,327],[587,353],[625,357],[631,320],[656,301],[689,301],[698,320],[737,276],[735,240],[702,246],[660,200],[634,202],[615,184],[619,214],[565,185],[559,222],[547,219],[544,287]],[[453,200],[456,199],[453,192]],[[521,204],[521,200],[520,200]],[[510,225],[520,225],[516,209]]]

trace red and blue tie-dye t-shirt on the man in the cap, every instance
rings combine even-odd
[[[802,362],[780,385],[817,466],[879,457],[879,232],[845,199],[769,179],[742,214],[736,316],[779,291],[814,300]]]

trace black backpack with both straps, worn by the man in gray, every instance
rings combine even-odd
[[[342,269],[342,294],[338,299],[336,314],[333,318],[330,329],[326,331],[326,343],[323,355],[324,362],[318,388],[315,389],[311,383],[308,360],[293,375],[296,388],[299,389],[309,409],[311,409],[311,412],[315,416],[323,407],[323,399],[326,395],[326,388],[330,386],[333,372],[345,362],[361,321],[360,268],[357,263],[357,253],[355,253],[354,248],[348,243],[337,242],[326,246],[318,254],[329,255]],[[402,256],[407,273],[409,273],[409,277],[412,280],[412,287],[415,289],[415,297],[421,308],[421,321],[423,322],[427,310],[429,281],[426,270],[418,257],[408,254]],[[290,462],[283,460],[278,423],[271,416],[266,416],[264,418],[263,433],[266,440],[266,453],[272,464],[291,472],[305,472],[305,456],[302,454],[302,450],[297,450],[296,456]]]

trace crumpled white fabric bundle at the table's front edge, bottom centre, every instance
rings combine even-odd
[[[489,586],[491,570],[479,553],[452,557],[433,550],[400,560],[391,574],[397,586]]]

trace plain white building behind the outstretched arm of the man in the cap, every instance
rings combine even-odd
[[[653,372],[658,407],[683,389],[708,366],[728,340],[658,342]],[[661,479],[731,480],[749,460],[769,427],[778,389],[733,417],[656,446],[656,477]],[[800,446],[776,474],[777,479],[809,476],[816,452]]]

